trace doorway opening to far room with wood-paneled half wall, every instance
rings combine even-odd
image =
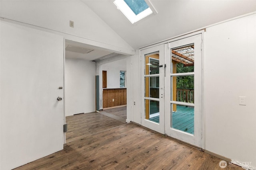
[[[118,119],[122,119],[122,121],[126,122],[126,58],[122,58],[109,63],[104,63],[101,65],[101,69],[103,89],[103,111],[114,115],[114,117],[117,116],[116,118],[119,117]],[[105,85],[104,82],[106,82]]]

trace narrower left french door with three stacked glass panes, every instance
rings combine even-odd
[[[164,134],[164,45],[141,51],[141,124]]]

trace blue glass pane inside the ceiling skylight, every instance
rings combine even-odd
[[[135,15],[149,8],[144,0],[124,0],[124,2],[131,8]]]

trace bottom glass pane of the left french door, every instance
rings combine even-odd
[[[145,99],[145,119],[159,123],[159,101]]]

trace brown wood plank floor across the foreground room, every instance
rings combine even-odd
[[[67,143],[64,150],[16,170],[222,170],[219,158],[133,123],[109,126],[104,124],[109,118],[100,113],[84,115],[71,116],[70,122],[76,125],[69,127],[84,126],[74,119],[84,124],[91,119],[94,127],[91,132],[88,128],[84,132],[74,128],[74,134],[82,134],[80,139]],[[227,168],[242,170],[238,166]]]

